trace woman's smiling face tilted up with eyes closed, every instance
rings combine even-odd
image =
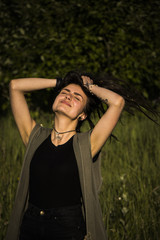
[[[56,97],[52,109],[55,113],[62,113],[73,120],[78,118],[84,120],[86,118],[84,113],[86,104],[87,96],[82,88],[76,84],[69,84]]]

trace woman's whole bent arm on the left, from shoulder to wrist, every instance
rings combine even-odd
[[[36,124],[31,118],[25,93],[55,86],[56,79],[22,78],[11,80],[9,86],[11,108],[25,145],[27,145],[31,131]]]

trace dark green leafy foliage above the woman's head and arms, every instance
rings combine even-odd
[[[53,78],[72,69],[107,72],[158,97],[159,0],[0,3],[2,108],[10,79]]]

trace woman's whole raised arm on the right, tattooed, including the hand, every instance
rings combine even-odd
[[[94,157],[102,148],[116,126],[124,108],[125,100],[117,93],[106,88],[94,85],[92,80],[83,76],[84,85],[107,105],[107,111],[100,118],[91,133],[91,151]]]

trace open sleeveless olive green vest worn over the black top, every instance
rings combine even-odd
[[[17,188],[15,203],[5,240],[18,240],[19,228],[24,211],[28,206],[28,186],[30,161],[38,146],[49,136],[51,129],[37,124],[31,132]],[[100,157],[93,163],[90,147],[90,131],[77,133],[73,138],[73,148],[77,160],[86,219],[86,240],[106,240],[102,213],[98,199],[101,187]]]

